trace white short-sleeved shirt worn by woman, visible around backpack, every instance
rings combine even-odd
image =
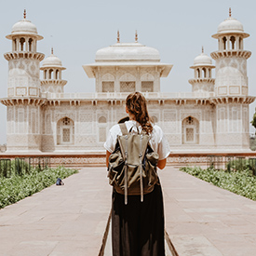
[[[130,130],[130,128],[136,131],[136,127],[138,127],[141,132],[141,125],[138,122],[134,120],[129,120],[125,122],[125,124],[128,128],[128,131]],[[113,153],[115,150],[117,135],[122,135],[121,129],[118,124],[109,130],[107,141],[105,141],[104,143],[105,149],[110,153]],[[150,134],[150,145],[152,146],[152,149],[159,155],[159,160],[163,160],[168,157],[170,153],[168,141],[162,129],[156,125],[153,126],[153,131]]]

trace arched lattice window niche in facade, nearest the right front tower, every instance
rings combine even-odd
[[[199,122],[195,117],[188,116],[182,121],[182,143],[199,143]]]

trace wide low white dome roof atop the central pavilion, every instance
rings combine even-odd
[[[99,61],[160,61],[159,51],[139,43],[116,43],[96,52],[96,62]]]

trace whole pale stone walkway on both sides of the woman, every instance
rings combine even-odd
[[[256,202],[175,168],[160,171],[166,230],[180,256],[256,255]],[[111,187],[105,168],[83,168],[0,210],[0,255],[97,256]]]

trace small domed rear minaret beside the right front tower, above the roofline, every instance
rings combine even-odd
[[[188,81],[192,85],[192,91],[213,92],[215,79],[212,78],[212,69],[215,66],[212,65],[211,58],[204,53],[203,47],[202,53],[195,57],[194,65],[190,68],[194,69],[194,79]]]

